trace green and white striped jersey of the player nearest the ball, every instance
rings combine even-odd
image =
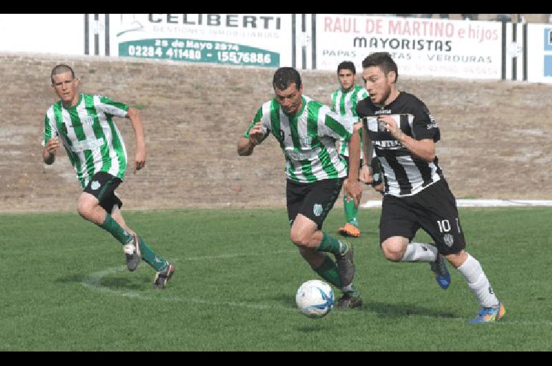
[[[357,117],[342,117],[330,107],[302,95],[299,113],[288,116],[274,98],[262,105],[244,137],[261,121],[264,136],[272,133],[286,159],[286,175],[293,182],[308,183],[345,177],[347,166],[335,142],[351,138]]]

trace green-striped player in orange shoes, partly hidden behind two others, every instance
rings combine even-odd
[[[362,86],[355,85],[355,64],[351,61],[343,61],[337,66],[337,79],[340,88],[332,93],[332,109],[343,116],[357,117],[355,110],[357,102],[368,97],[368,92]],[[362,131],[359,131],[361,133]],[[339,140],[339,155],[342,155],[348,162],[349,149],[346,140]],[[361,140],[362,142],[362,140]],[[362,164],[362,144],[360,148],[360,164]],[[369,161],[369,160],[368,160]],[[345,180],[344,190],[347,186]],[[360,236],[359,224],[357,219],[358,207],[355,202],[350,200],[346,194],[343,195],[343,208],[345,211],[345,225],[340,227],[338,232],[344,236],[358,238]]]

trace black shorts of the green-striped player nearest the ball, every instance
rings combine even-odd
[[[316,222],[319,230],[341,191],[344,178],[296,183],[287,180],[286,200],[290,225],[301,213]]]

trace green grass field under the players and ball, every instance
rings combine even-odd
[[[467,250],[506,305],[487,325],[468,323],[478,305],[454,269],[443,291],[428,264],[383,258],[379,215],[361,210],[351,240],[364,306],[310,319],[295,291],[317,276],[285,209],[127,211],[177,268],[164,291],[145,262],[126,271],[121,245],[77,213],[1,214],[0,350],[552,350],[552,208],[460,209]],[[324,230],[342,218],[333,209]]]

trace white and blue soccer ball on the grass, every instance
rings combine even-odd
[[[330,285],[320,280],[304,282],[295,295],[299,311],[309,318],[326,316],[333,309],[334,300]]]

